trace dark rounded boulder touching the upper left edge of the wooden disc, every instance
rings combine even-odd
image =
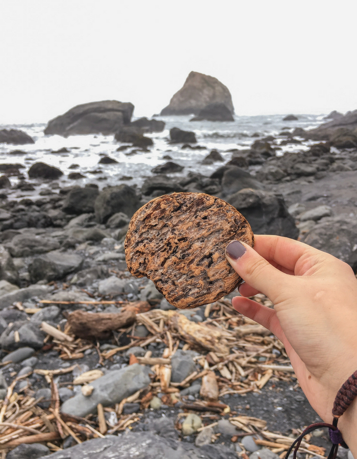
[[[132,217],[139,207],[140,199],[134,188],[124,184],[108,187],[101,191],[95,200],[95,218],[99,223],[106,223],[117,212]]]

